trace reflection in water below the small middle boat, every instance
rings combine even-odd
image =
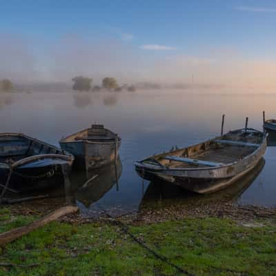
[[[119,188],[121,177],[121,159],[118,157],[117,165],[114,163],[86,172],[72,172],[70,187],[66,189],[67,201],[77,201],[81,210],[99,201],[116,184]]]

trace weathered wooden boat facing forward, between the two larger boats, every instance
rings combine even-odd
[[[68,137],[59,144],[63,150],[75,156],[75,165],[79,169],[95,169],[110,164],[118,155],[121,138],[103,125],[92,125]]]

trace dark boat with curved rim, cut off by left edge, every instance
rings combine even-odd
[[[69,152],[38,139],[19,133],[1,133],[0,190],[37,188],[41,179],[65,170],[68,173],[73,161]]]

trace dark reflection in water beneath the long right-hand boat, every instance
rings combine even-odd
[[[197,193],[184,190],[183,188],[170,185],[165,181],[151,182],[146,193],[140,203],[139,210],[158,206],[161,202],[160,208],[166,206],[175,206],[193,204],[210,204],[219,201],[237,201],[245,190],[253,184],[253,181],[258,177],[264,168],[265,160],[262,158],[254,170],[250,170],[244,177],[237,180],[233,185],[228,186],[224,190],[210,195],[199,195]]]

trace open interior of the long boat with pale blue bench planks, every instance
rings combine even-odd
[[[264,133],[257,130],[235,130],[201,144],[154,155],[143,163],[168,168],[224,166],[253,153],[262,144],[263,139]]]

